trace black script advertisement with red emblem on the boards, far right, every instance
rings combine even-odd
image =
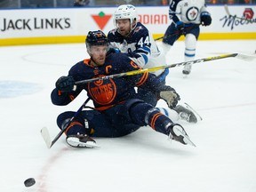
[[[239,25],[249,25],[256,23],[256,18],[253,19],[254,12],[252,8],[245,8],[242,17],[237,17],[236,15],[225,16],[220,20],[223,20],[223,28],[230,27],[233,30],[235,27]]]

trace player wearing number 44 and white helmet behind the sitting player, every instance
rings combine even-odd
[[[108,32],[109,46],[116,52],[123,52],[141,68],[153,68],[166,65],[164,52],[160,52],[148,28],[138,21],[136,8],[132,4],[120,5],[113,15],[116,28]],[[154,73],[165,84],[169,69]],[[159,95],[150,90],[138,88],[138,98],[156,106]],[[179,117],[196,123],[196,115],[188,106],[177,105],[175,110]]]

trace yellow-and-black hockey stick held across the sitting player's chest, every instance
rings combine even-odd
[[[219,55],[219,56],[208,57],[208,58],[203,58],[203,59],[199,59],[199,60],[184,61],[184,62],[180,62],[180,63],[174,63],[171,65],[159,66],[159,67],[155,67],[155,68],[143,68],[140,70],[127,71],[124,73],[114,74],[111,76],[100,76],[100,77],[96,77],[96,78],[92,78],[92,79],[85,79],[85,80],[81,80],[81,81],[76,81],[76,84],[86,84],[86,83],[95,82],[98,80],[106,80],[109,78],[116,78],[116,77],[122,77],[122,76],[134,76],[134,75],[138,75],[141,73],[152,72],[152,71],[156,71],[156,70],[160,70],[160,69],[164,69],[164,68],[175,68],[177,66],[196,64],[196,63],[201,63],[201,62],[206,62],[206,61],[211,61],[211,60],[221,60],[221,59],[225,59],[225,58],[229,58],[229,57],[236,57],[237,59],[247,60],[247,61],[253,60],[256,58],[254,56],[244,55],[244,54],[240,54],[240,53],[223,54],[223,55]]]

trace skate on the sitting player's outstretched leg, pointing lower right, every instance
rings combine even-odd
[[[189,139],[187,132],[180,124],[172,124],[169,133],[170,140],[176,140],[184,145],[191,145],[196,147],[196,145]]]

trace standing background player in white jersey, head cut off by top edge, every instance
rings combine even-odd
[[[212,17],[206,10],[205,1],[171,0],[169,18],[172,23],[164,34],[164,52],[168,52],[180,36],[185,36],[185,61],[194,60],[196,41],[200,34],[199,25],[209,26],[212,23]],[[191,68],[191,64],[184,66],[182,73],[188,75]]]

